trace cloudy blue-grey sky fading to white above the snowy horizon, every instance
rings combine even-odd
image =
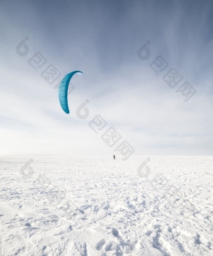
[[[212,12],[211,0],[1,0],[0,154],[122,156],[125,141],[130,156],[212,155]],[[67,115],[58,84],[74,70]]]

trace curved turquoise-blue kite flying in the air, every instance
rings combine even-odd
[[[67,91],[69,88],[69,81],[71,80],[72,76],[78,72],[82,73],[81,71],[77,70],[77,71],[67,74],[61,81],[59,89],[58,89],[58,99],[59,99],[61,108],[67,114],[69,114],[69,106],[68,106],[68,100],[67,100]]]

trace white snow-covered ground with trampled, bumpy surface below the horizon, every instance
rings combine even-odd
[[[144,161],[1,157],[0,255],[213,255],[213,157]]]

